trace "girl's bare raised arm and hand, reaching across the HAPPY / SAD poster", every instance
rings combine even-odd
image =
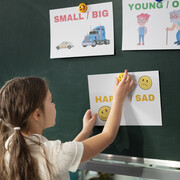
[[[116,80],[112,108],[103,131],[98,135],[82,141],[84,152],[81,162],[87,161],[99,154],[114,141],[121,121],[123,103],[133,88],[134,80],[128,74],[127,70],[125,70],[122,81],[118,82]]]

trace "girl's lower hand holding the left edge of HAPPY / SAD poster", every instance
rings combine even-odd
[[[88,136],[91,135],[92,133],[92,130],[93,130],[93,127],[94,127],[94,124],[95,124],[95,120],[96,120],[96,117],[97,117],[97,114],[94,114],[92,117],[91,117],[91,110],[88,109],[84,115],[84,118],[83,118],[83,129],[82,131],[84,133],[86,133]]]

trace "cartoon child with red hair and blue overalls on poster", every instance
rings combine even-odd
[[[138,32],[139,32],[139,43],[137,45],[144,45],[144,35],[147,33],[147,28],[144,26],[149,19],[150,15],[149,14],[144,14],[141,13],[140,15],[137,16],[137,22],[139,24]]]

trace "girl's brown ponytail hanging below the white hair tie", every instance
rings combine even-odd
[[[39,180],[38,163],[32,157],[30,148],[27,145],[20,130],[14,130],[11,142],[8,147],[11,158],[9,160],[9,178],[10,180]]]

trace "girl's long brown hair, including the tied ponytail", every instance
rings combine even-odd
[[[38,162],[31,155],[22,131],[29,130],[28,117],[37,109],[43,111],[48,86],[38,77],[14,78],[0,90],[0,178],[1,180],[40,180]],[[5,142],[13,133],[8,150]],[[40,145],[40,144],[39,144]],[[5,154],[9,151],[9,164]],[[47,159],[46,159],[47,162]],[[48,169],[50,171],[48,162]]]

